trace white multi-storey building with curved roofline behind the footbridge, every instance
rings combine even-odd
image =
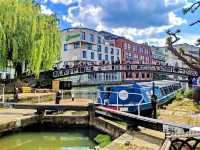
[[[121,49],[115,47],[114,42],[106,41],[95,30],[70,28],[62,31],[62,66],[86,63],[92,65],[120,63],[120,56]],[[98,82],[121,81],[121,74],[86,74],[72,77],[71,80],[80,84],[97,84]]]

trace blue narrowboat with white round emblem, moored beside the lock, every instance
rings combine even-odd
[[[152,85],[153,82],[139,82],[128,85],[99,86],[98,103],[125,112],[151,110]],[[182,85],[178,81],[154,81],[154,85],[158,106],[175,98],[177,91],[182,89]]]

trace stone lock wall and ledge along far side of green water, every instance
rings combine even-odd
[[[44,128],[76,128],[94,127],[109,134],[113,139],[126,132],[126,128],[120,127],[112,121],[104,118],[91,117],[88,112],[64,112],[39,116],[27,110],[2,109],[0,110],[0,136],[9,132],[18,131],[27,126],[39,125]]]

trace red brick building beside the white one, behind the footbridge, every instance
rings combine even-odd
[[[125,38],[115,39],[116,47],[121,48],[122,64],[151,64],[152,51],[147,44],[138,44]],[[150,72],[122,73],[123,80],[152,80]]]

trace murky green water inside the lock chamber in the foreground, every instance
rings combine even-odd
[[[92,150],[96,146],[93,129],[19,132],[0,138],[1,150]],[[94,136],[95,135],[95,136]]]

